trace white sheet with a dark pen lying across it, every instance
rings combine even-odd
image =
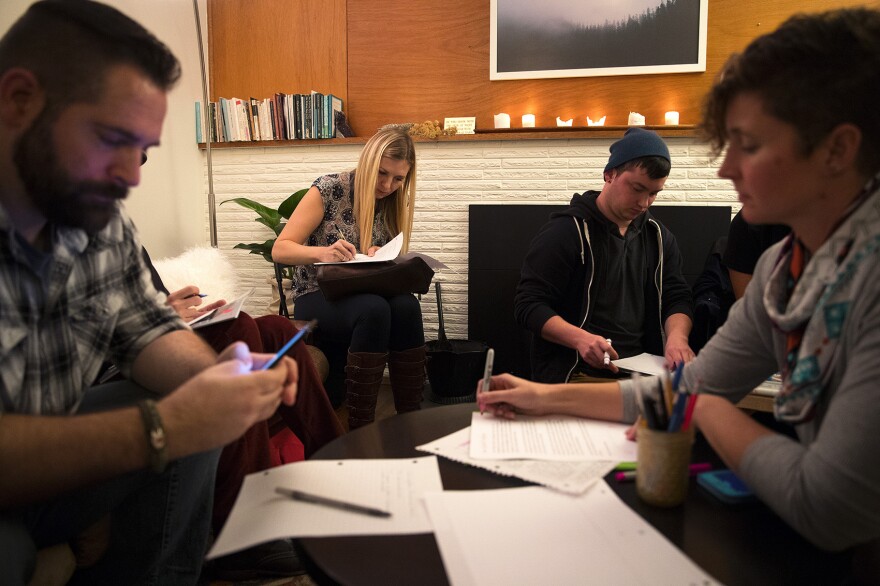
[[[295,501],[275,493],[295,488],[391,512],[371,517]],[[312,460],[245,477],[241,491],[208,558],[285,537],[430,533],[421,503],[443,490],[437,458]]]

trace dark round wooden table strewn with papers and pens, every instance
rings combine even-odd
[[[415,446],[467,427],[474,408],[473,403],[463,403],[384,419],[335,440],[314,458],[425,456]],[[529,484],[444,458],[438,460],[447,490]],[[700,439],[694,446],[694,461],[721,466]],[[684,505],[658,509],[638,499],[635,483],[618,483],[612,475],[606,480],[627,505],[728,586],[847,583],[849,556],[813,547],[761,503],[725,505],[692,480]],[[448,584],[433,534],[304,538],[297,542],[309,574],[321,584]]]

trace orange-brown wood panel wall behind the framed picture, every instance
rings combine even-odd
[[[630,111],[662,124],[667,110],[678,110],[682,124],[695,124],[702,96],[730,53],[795,12],[854,4],[709,0],[704,73],[489,81],[489,0],[219,0],[209,3],[212,95],[331,91],[344,96],[361,136],[389,122],[442,123],[451,116],[476,116],[477,128],[492,128],[498,112],[510,114],[513,126],[528,112],[539,127],[554,126],[556,116],[583,126],[586,116],[605,115],[607,125],[625,125]],[[336,19],[345,21],[344,33]],[[278,32],[250,30],[267,20]],[[328,30],[315,30],[319,22]],[[288,30],[305,32],[282,32]],[[335,60],[301,57],[335,53],[345,46],[342,36],[347,52]],[[273,47],[271,59],[249,57]],[[345,64],[347,77],[326,71],[327,63],[331,69]],[[291,89],[293,82],[299,89]],[[321,83],[330,87],[317,87]]]

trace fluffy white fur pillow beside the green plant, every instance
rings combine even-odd
[[[206,303],[238,297],[235,269],[217,248],[190,248],[180,256],[155,260],[153,265],[169,292],[195,285],[207,294]]]

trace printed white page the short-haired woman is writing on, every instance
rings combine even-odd
[[[557,460],[577,462],[636,459],[635,442],[626,439],[628,425],[553,415],[503,419],[474,413],[471,417],[471,458]]]

